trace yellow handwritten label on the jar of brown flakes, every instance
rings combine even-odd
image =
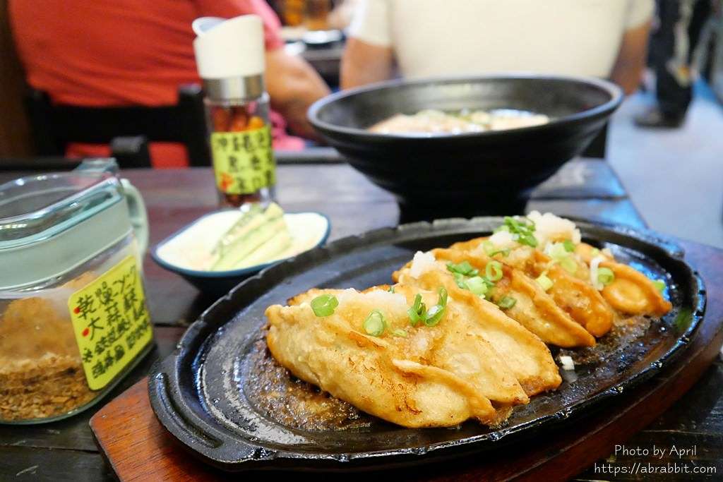
[[[132,255],[73,293],[68,309],[90,390],[110,383],[153,339]]]

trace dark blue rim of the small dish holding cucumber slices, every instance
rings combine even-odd
[[[184,268],[180,266],[176,266],[176,264],[171,264],[167,262],[165,259],[163,259],[161,256],[158,255],[158,249],[163,247],[165,244],[168,243],[168,241],[173,240],[176,238],[176,236],[181,235],[185,231],[192,228],[194,225],[199,223],[201,220],[208,218],[209,216],[213,216],[218,214],[219,212],[226,212],[226,211],[232,211],[230,209],[228,210],[216,210],[212,212],[207,212],[205,215],[202,215],[200,218],[197,218],[196,220],[192,221],[191,223],[188,223],[184,227],[180,228],[178,231],[175,231],[171,235],[167,236],[163,239],[163,241],[158,242],[158,244],[155,244],[153,246],[153,249],[150,250],[150,257],[153,259],[155,264],[158,264],[158,266],[162,267],[164,270],[168,270],[171,272],[174,272],[176,274],[182,275],[182,276],[189,276],[189,277],[197,277],[197,278],[223,278],[223,277],[241,277],[241,276],[247,276],[251,275],[255,272],[259,272],[272,264],[276,264],[278,262],[286,261],[287,259],[291,259],[293,257],[298,256],[301,253],[294,254],[294,256],[276,259],[275,261],[270,261],[267,263],[262,264],[255,264],[254,266],[249,266],[245,268],[240,268],[239,270],[226,270],[226,271],[201,271],[201,270],[190,270],[189,268]],[[317,216],[320,216],[326,221],[326,227],[324,230],[324,234],[320,238],[319,242],[312,246],[309,249],[314,249],[319,246],[322,246],[325,244],[326,240],[329,238],[329,234],[331,233],[331,220],[328,218],[327,215],[325,215],[322,212],[318,211],[295,211],[295,212],[284,212],[283,215],[298,215],[298,214],[314,214]],[[308,251],[308,249],[306,250]],[[301,251],[302,253],[304,251]]]

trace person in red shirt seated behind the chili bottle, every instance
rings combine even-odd
[[[54,103],[175,104],[179,85],[200,82],[193,20],[243,14],[263,20],[271,107],[292,132],[314,136],[307,108],[329,93],[306,61],[285,53],[280,22],[264,0],[9,0],[8,9],[27,82]],[[276,147],[288,145],[275,136]],[[182,145],[153,142],[150,152],[155,167],[187,165]],[[108,155],[108,147],[72,145],[68,153]]]

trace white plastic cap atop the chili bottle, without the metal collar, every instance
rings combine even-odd
[[[264,73],[264,28],[258,15],[229,20],[201,17],[194,20],[193,41],[198,74],[202,79],[252,77]]]

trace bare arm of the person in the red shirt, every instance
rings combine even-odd
[[[329,87],[307,61],[283,48],[266,52],[266,87],[271,107],[281,113],[294,134],[309,139],[317,135],[307,121],[307,110],[329,94]]]

